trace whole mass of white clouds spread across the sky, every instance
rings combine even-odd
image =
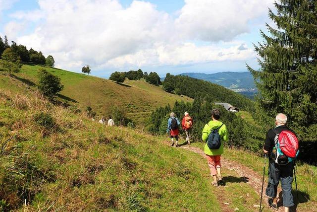
[[[249,59],[254,53],[244,41],[227,41],[248,32],[248,21],[266,14],[264,5],[271,0],[186,0],[176,18],[137,0],[127,8],[118,0],[38,2],[35,11],[11,14],[20,21],[41,20],[17,43],[53,55],[59,67],[78,71],[86,64],[102,69]],[[200,40],[207,43],[198,45]]]

